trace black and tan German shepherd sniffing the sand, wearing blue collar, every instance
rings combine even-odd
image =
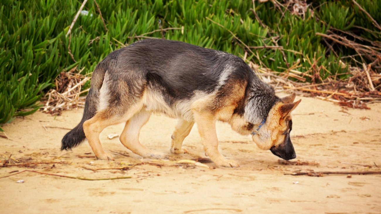
[[[139,142],[139,132],[152,112],[178,118],[170,151],[181,149],[197,123],[205,155],[218,166],[238,167],[218,151],[216,121],[240,134],[252,134],[259,148],[285,160],[296,157],[290,140],[290,112],[295,94],[280,99],[239,57],[183,42],[146,39],[110,53],[93,72],[80,123],[62,139],[68,150],[86,138],[99,160],[114,160],[104,152],[99,134],[125,122],[120,142],[142,157],[157,152]]]

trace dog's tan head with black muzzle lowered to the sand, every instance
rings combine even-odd
[[[294,102],[295,94],[283,97],[272,107],[266,122],[253,135],[253,141],[259,148],[270,150],[274,155],[290,160],[296,158],[294,147],[291,143],[290,132],[292,121],[290,112],[296,108],[301,100]]]

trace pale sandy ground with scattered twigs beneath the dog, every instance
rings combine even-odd
[[[301,98],[293,112],[291,140],[296,160],[315,161],[318,166],[280,164],[270,151],[258,149],[250,136],[240,136],[224,123],[217,125],[219,149],[240,168],[216,168],[213,163],[205,163],[209,168],[179,166],[174,161],[207,157],[196,127],[184,141],[189,154],[171,154],[176,120],[162,115],[152,115],[140,140],[172,162],[149,164],[125,149],[118,138],[107,139],[108,134],[120,134],[123,124],[110,126],[101,134],[104,149],[115,161],[98,161],[91,157],[87,142],[69,152],[59,150],[68,131],[61,128],[77,125],[83,109],[59,117],[37,112],[16,118],[2,127],[11,140],[0,138],[1,163],[10,155],[13,164],[15,160],[65,163],[3,167],[0,177],[29,169],[73,177],[131,178],[90,181],[23,172],[0,179],[0,213],[381,213],[381,175],[284,175],[309,169],[381,171],[377,167],[381,166],[381,104],[370,104],[371,110],[346,110],[330,102]],[[137,165],[130,170],[95,170],[128,164]]]

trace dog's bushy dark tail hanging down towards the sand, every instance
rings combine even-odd
[[[95,112],[98,108],[99,90],[102,87],[104,75],[107,70],[106,66],[104,66],[105,64],[107,63],[103,61],[99,63],[95,68],[91,77],[91,87],[86,97],[85,110],[83,111],[82,120],[77,126],[75,126],[74,129],[69,131],[62,138],[61,150],[70,150],[78,144],[82,143],[86,139],[85,132],[83,132],[83,123],[86,120],[94,117]]]

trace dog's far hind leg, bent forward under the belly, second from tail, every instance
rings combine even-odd
[[[140,129],[147,123],[151,112],[146,111],[144,108],[136,113],[133,117],[126,122],[122,134],[120,134],[120,142],[129,150],[142,157],[160,158],[162,155],[153,150],[147,149],[139,142]]]

